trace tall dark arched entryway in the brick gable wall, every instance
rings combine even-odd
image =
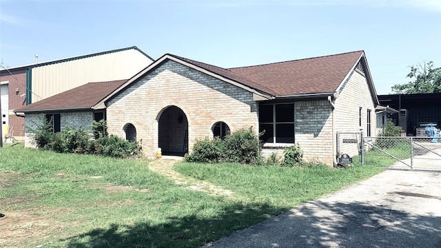
[[[183,156],[188,152],[188,121],[179,107],[167,107],[159,116],[158,146],[163,155]]]

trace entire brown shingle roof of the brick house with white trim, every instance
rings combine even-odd
[[[215,65],[165,54],[144,70],[123,81],[88,83],[48,99],[23,107],[15,112],[37,112],[41,110],[92,109],[125,90],[132,83],[150,73],[167,60],[190,66],[210,76],[243,87],[263,99],[297,96],[331,96],[338,91],[351,71],[361,61],[366,68],[367,81],[373,99],[376,92],[367,68],[365,52],[347,52],[310,59],[299,59],[241,68],[220,68]],[[378,100],[376,100],[378,102]]]

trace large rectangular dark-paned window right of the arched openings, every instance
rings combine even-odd
[[[259,132],[264,143],[294,143],[294,103],[259,105]]]

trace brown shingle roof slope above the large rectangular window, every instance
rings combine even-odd
[[[362,54],[363,51],[347,52],[227,70],[247,77],[249,82],[265,85],[271,89],[267,93],[273,96],[333,93]],[[259,89],[258,85],[256,88]]]

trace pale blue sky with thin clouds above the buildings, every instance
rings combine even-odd
[[[365,50],[389,94],[410,65],[441,67],[441,1],[0,1],[6,68],[133,45],[223,68]]]

